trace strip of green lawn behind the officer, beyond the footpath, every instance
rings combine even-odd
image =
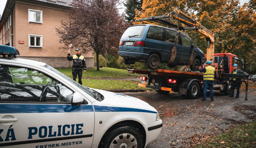
[[[72,78],[72,72],[71,69],[57,69],[61,73],[69,76]],[[112,77],[112,78],[138,78],[141,77],[139,74],[130,74],[127,70],[124,69],[116,69],[116,68],[100,68],[99,71],[97,69],[86,69],[86,72],[83,73],[82,79],[85,78],[106,78],[106,77]]]

